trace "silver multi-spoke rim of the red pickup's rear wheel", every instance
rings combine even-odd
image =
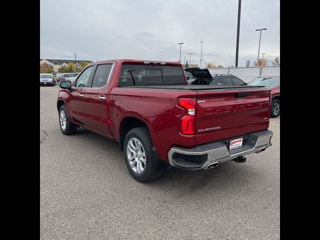
[[[145,168],[145,151],[142,143],[132,137],[126,146],[127,160],[131,169],[136,173],[142,173]]]

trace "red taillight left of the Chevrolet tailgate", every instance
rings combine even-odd
[[[184,108],[180,117],[180,131],[183,134],[194,134],[195,127],[195,98],[180,98],[178,105]]]

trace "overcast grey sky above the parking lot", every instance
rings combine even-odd
[[[235,64],[238,0],[40,0],[40,58]],[[238,66],[280,56],[280,0],[242,0]],[[184,56],[186,56],[184,58]],[[262,55],[260,55],[262,57]],[[204,65],[204,64],[203,64]],[[202,65],[202,66],[203,66]]]

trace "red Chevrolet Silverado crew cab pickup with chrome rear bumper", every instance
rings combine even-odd
[[[162,169],[208,169],[245,162],[271,146],[270,88],[188,85],[179,62],[117,59],[87,65],[61,81],[60,129],[84,127],[119,142],[131,175],[146,182]]]

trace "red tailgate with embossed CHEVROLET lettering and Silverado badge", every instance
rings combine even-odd
[[[267,129],[270,89],[199,90],[195,144]]]

